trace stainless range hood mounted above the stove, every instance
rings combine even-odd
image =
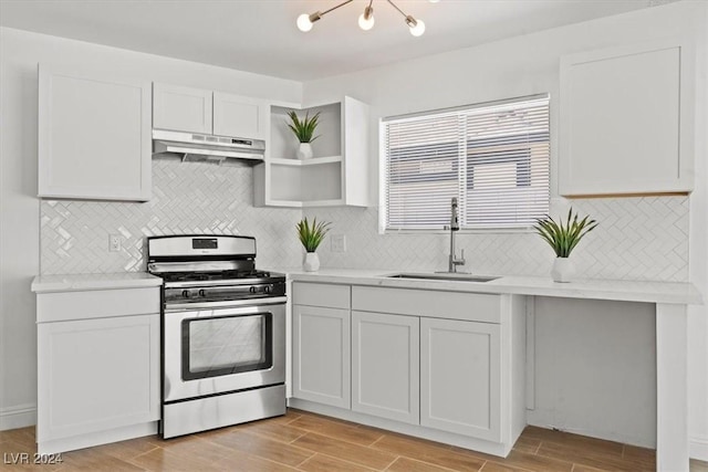
[[[177,154],[183,160],[210,160],[221,164],[225,159],[243,159],[262,162],[266,141],[201,135],[197,133],[153,129],[153,154]]]

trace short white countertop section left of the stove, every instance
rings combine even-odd
[[[137,289],[159,286],[160,277],[146,272],[118,272],[112,274],[58,274],[38,275],[32,281],[32,292],[76,292],[87,290]]]

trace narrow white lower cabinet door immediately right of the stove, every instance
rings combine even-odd
[[[295,398],[351,407],[350,311],[293,305]]]

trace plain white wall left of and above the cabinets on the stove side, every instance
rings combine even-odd
[[[30,282],[40,273],[40,201],[35,197],[40,62],[287,102],[300,102],[302,96],[302,84],[293,81],[0,29],[0,429],[32,424],[37,403],[35,305]]]

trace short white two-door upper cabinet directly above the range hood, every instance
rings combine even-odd
[[[154,84],[153,127],[266,139],[268,107],[259,98],[179,85]]]

